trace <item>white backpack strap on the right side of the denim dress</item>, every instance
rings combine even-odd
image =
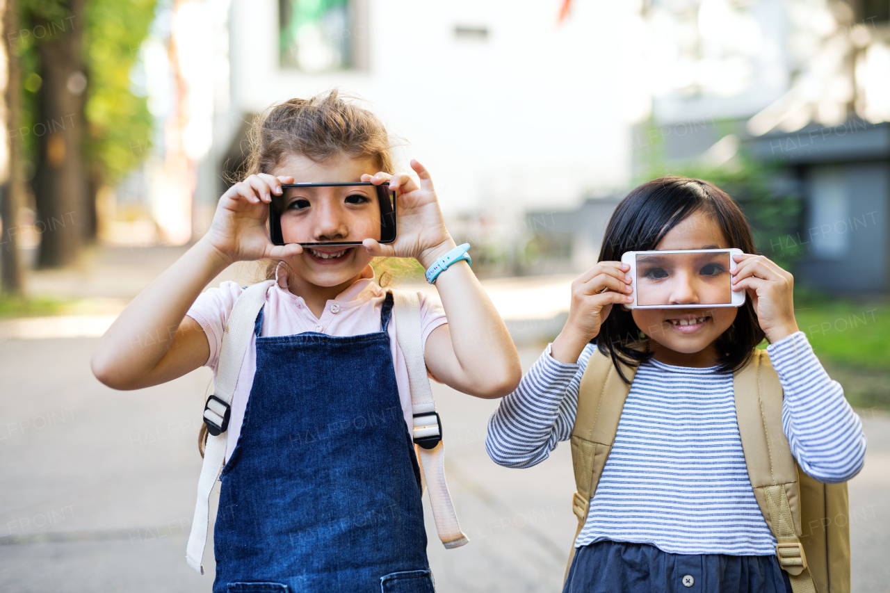
[[[441,419],[433,402],[433,391],[426,376],[420,331],[420,298],[416,292],[393,290],[396,337],[408,366],[411,387],[411,409],[414,414],[414,442],[419,445],[420,463],[424,469],[426,488],[436,531],[445,548],[458,548],[469,542],[460,525],[454,504],[445,483],[445,449],[441,440]]]

